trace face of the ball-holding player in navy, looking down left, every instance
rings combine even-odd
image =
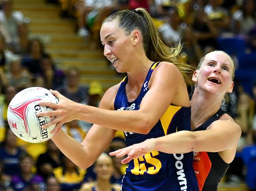
[[[128,71],[129,58],[132,58],[132,38],[117,27],[117,21],[105,22],[100,29],[100,39],[104,45],[104,56],[118,72]]]

